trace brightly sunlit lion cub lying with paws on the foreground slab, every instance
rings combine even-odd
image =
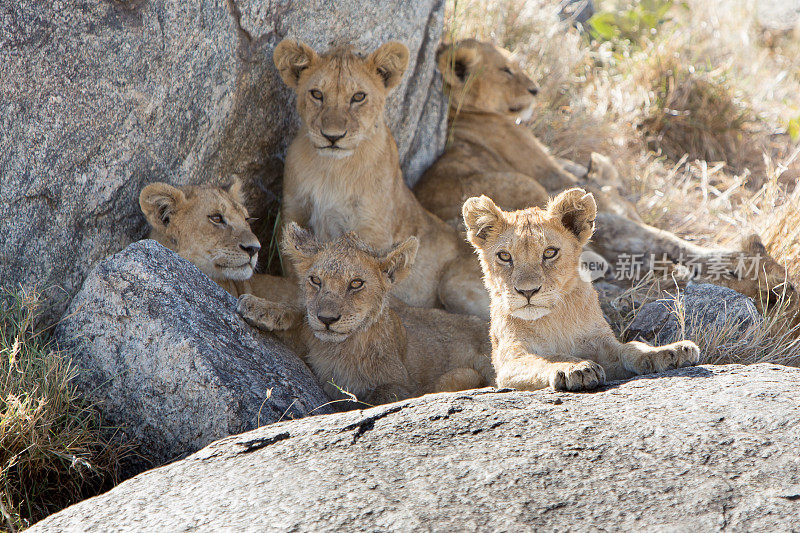
[[[492,300],[492,363],[499,387],[586,390],[609,379],[695,364],[691,341],[651,347],[619,342],[591,283],[578,275],[597,205],[569,189],[547,209],[506,212],[486,196],[462,209]]]

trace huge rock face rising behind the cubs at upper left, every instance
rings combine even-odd
[[[0,2],[0,282],[63,287],[52,291],[63,310],[97,261],[143,236],[136,198],[152,181],[239,174],[259,211],[274,210],[298,125],[272,64],[286,36],[320,50],[409,46],[388,118],[414,178],[444,145],[443,10],[444,0]]]

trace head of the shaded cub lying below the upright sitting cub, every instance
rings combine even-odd
[[[314,335],[341,342],[375,323],[389,289],[411,271],[419,241],[409,237],[388,252],[378,252],[348,233],[323,244],[292,222],[282,247],[297,267]]]

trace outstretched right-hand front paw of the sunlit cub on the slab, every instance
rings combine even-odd
[[[620,365],[634,374],[653,374],[700,361],[700,348],[692,341],[678,341],[664,346],[649,346],[631,341],[617,345]]]

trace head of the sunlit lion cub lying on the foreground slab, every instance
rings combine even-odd
[[[470,198],[463,215],[478,252],[492,312],[536,320],[579,283],[583,246],[594,232],[597,205],[583,189],[570,189],[547,209],[502,211],[486,196]]]

